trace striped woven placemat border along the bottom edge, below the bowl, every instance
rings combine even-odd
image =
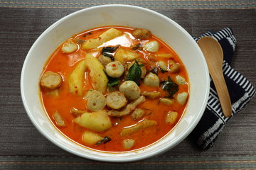
[[[113,164],[79,157],[0,157],[0,169],[256,169],[256,155],[155,157],[143,162]]]

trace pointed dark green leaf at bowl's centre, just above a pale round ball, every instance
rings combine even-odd
[[[139,64],[139,62],[135,60],[134,64],[132,64],[132,67],[129,68],[126,80],[134,81],[136,84],[140,85],[139,79],[142,76],[141,67],[143,66],[143,64]]]

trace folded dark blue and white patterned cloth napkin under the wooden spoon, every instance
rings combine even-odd
[[[223,48],[223,73],[232,103],[232,116],[230,117],[232,118],[236,113],[241,111],[255,95],[255,89],[252,84],[250,84],[250,81],[230,67],[236,43],[233,30],[231,28],[225,28],[218,33],[208,31],[194,39],[198,41],[205,36],[215,38],[215,40],[220,42],[220,45]],[[199,147],[202,149],[209,149],[213,146],[213,142],[215,142],[219,133],[223,130],[225,123],[227,123],[230,118],[225,118],[223,115],[215,86],[210,79],[210,96],[208,98],[206,111],[196,128],[191,133],[191,137],[196,140]]]

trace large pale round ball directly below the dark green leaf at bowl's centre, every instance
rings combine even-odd
[[[139,98],[141,90],[139,89],[139,86],[134,81],[124,81],[119,86],[119,91],[121,91],[122,94],[129,100],[135,100]]]

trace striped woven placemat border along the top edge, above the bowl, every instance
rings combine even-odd
[[[144,8],[193,8],[193,9],[216,9],[216,8],[256,8],[254,0],[229,0],[229,1],[186,1],[186,0],[2,0],[0,6],[9,8],[87,8],[102,4],[129,4]]]

